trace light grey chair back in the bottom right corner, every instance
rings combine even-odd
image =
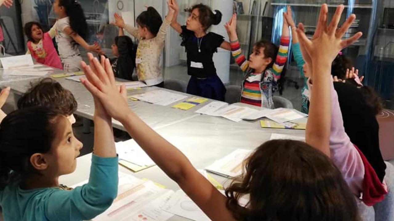
[[[385,199],[374,205],[375,221],[394,220],[394,166],[389,162],[386,163],[385,182],[388,193]]]

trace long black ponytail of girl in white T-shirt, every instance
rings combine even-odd
[[[86,40],[88,29],[84,9],[76,0],[59,0],[59,6],[66,9],[66,14],[70,18],[70,27]]]

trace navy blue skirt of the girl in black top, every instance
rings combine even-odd
[[[206,77],[204,79],[198,79],[197,77],[191,76],[187,93],[204,98],[224,101],[226,88],[217,75]]]

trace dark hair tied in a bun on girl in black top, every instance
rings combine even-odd
[[[204,4],[197,4],[191,7],[190,13],[198,9],[199,11],[199,21],[204,27],[204,31],[210,28],[212,25],[218,25],[221,22],[222,13],[219,10],[212,11],[209,6]]]

